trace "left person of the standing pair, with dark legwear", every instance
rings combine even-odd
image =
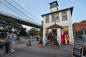
[[[11,47],[11,41],[12,41],[12,36],[10,34],[10,32],[6,32],[7,37],[6,37],[6,41],[5,41],[5,52],[8,53],[10,51],[10,47]]]

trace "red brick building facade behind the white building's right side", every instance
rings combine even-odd
[[[79,32],[81,30],[86,30],[86,20],[73,24],[74,33]]]

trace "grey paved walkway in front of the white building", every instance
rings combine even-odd
[[[51,46],[40,48],[34,41],[31,47],[25,44],[17,44],[15,52],[3,54],[1,57],[72,57],[72,46],[63,45],[58,49]]]

